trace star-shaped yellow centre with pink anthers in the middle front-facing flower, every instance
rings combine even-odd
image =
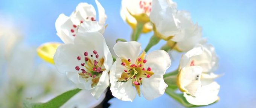
[[[131,59],[123,59],[121,58],[121,65],[126,68],[121,75],[121,78],[118,79],[119,82],[127,82],[131,80],[133,82],[133,86],[135,86],[138,95],[140,96],[140,85],[142,84],[142,78],[150,78],[154,75],[150,67],[145,68],[144,65],[147,62],[145,58],[145,51],[140,54],[137,58],[136,62],[131,63]]]

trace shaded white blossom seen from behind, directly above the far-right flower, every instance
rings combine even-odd
[[[189,12],[178,11],[176,17],[180,20],[181,30],[175,36],[182,39],[176,43],[169,40],[167,43],[169,46],[175,46],[174,49],[187,52],[197,44],[203,45],[206,43],[207,40],[202,37],[202,28],[198,24],[193,23]]]

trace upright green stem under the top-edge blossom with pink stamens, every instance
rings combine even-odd
[[[133,33],[131,34],[131,40],[137,41],[140,37],[140,34],[143,30],[143,26],[145,23],[139,22],[137,23],[136,27],[133,29]]]

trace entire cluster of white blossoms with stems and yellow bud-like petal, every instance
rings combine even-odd
[[[77,88],[88,90],[96,99],[109,87],[122,101],[133,101],[141,93],[152,100],[162,96],[166,88],[183,92],[185,101],[175,98],[181,104],[201,106],[219,100],[220,86],[214,81],[219,75],[213,74],[218,57],[189,12],[178,10],[172,0],[122,0],[120,14],[133,33],[129,42],[117,39],[122,42],[114,45],[111,54],[103,36],[105,10],[95,2],[99,20],[92,5],[79,3],[70,17],[61,14],[56,20],[57,35],[64,44],[48,43],[38,49],[40,57],[66,74]],[[136,41],[141,33],[150,31],[154,34],[142,50]],[[166,45],[148,52],[161,39]],[[177,71],[165,74],[171,66],[170,50],[184,54]]]

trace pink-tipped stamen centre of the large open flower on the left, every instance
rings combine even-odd
[[[88,55],[88,52],[84,52],[84,56],[84,62],[80,64],[82,69],[79,66],[76,66],[75,69],[78,71],[78,75],[84,78],[86,82],[91,80],[91,87],[94,87],[98,84],[102,72],[106,70],[102,68],[104,58],[99,58],[96,50],[91,55]],[[81,56],[78,56],[77,60],[82,60]]]

